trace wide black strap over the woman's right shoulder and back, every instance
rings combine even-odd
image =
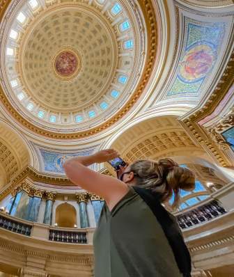
[[[136,186],[133,186],[133,189],[150,207],[157,221],[161,225],[172,248],[180,272],[184,277],[190,277],[192,270],[191,257],[175,217],[167,212],[161,205],[156,193],[152,193],[149,189],[143,189]]]

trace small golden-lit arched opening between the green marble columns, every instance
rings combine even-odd
[[[77,224],[77,211],[68,203],[63,203],[56,208],[55,222],[59,227],[74,228]]]

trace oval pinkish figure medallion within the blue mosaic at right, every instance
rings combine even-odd
[[[198,81],[208,74],[214,61],[214,50],[210,45],[193,46],[180,63],[180,78],[185,82]]]

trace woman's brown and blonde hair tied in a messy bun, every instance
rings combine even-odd
[[[195,175],[188,168],[180,167],[172,159],[139,160],[130,165],[135,173],[137,186],[158,193],[160,200],[169,200],[175,194],[173,207],[180,203],[180,189],[192,190],[195,187]]]

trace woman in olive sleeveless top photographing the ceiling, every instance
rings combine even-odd
[[[194,189],[194,174],[171,159],[135,161],[118,179],[87,166],[118,157],[102,150],[65,162],[70,180],[105,200],[93,238],[95,277],[188,277],[191,260],[176,219],[161,203]]]

